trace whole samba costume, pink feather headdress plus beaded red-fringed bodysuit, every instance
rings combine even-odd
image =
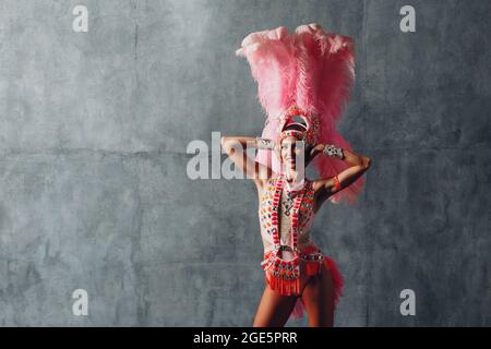
[[[355,81],[349,37],[326,34],[315,23],[300,25],[291,34],[280,26],[249,34],[236,55],[248,59],[258,83],[258,97],[266,113],[261,140],[280,144],[283,139],[294,136],[309,146],[334,143],[351,148],[335,128]],[[301,124],[306,131],[285,130],[291,124]],[[319,174],[336,180],[336,174],[348,165],[336,159],[335,148],[326,149],[324,155],[313,160]],[[275,172],[263,188],[259,207],[264,244],[261,266],[266,282],[280,294],[300,296],[302,277],[320,274],[324,264],[333,276],[337,304],[343,276],[335,262],[310,238],[314,218],[313,181],[304,178],[290,186],[285,179],[284,164],[266,147],[259,148],[255,160]],[[363,180],[359,178],[331,195],[330,201],[339,203],[347,198],[355,203],[362,184]],[[338,181],[336,185],[339,185]],[[299,297],[290,317],[302,317],[303,310]]]

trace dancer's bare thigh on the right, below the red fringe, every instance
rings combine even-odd
[[[320,275],[311,276],[302,292],[311,327],[334,325],[334,281],[331,270],[322,263]]]

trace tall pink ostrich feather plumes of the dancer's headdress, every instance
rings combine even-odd
[[[336,130],[355,83],[351,38],[327,34],[316,23],[300,25],[291,34],[279,26],[249,34],[236,55],[248,59],[258,83],[258,97],[266,113],[262,137],[277,141],[283,125],[300,113],[310,127],[308,143],[351,149]],[[255,160],[275,172],[280,170],[279,160],[271,151],[259,151]],[[349,167],[323,155],[315,157],[314,166],[321,178],[333,177]],[[360,177],[330,200],[338,203],[347,198],[352,204],[362,185]]]

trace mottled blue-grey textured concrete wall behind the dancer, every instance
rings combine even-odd
[[[405,4],[416,33],[399,31]],[[374,160],[358,205],[326,204],[312,231],[346,278],[336,325],[491,325],[490,14],[488,0],[1,1],[0,324],[252,324],[255,188],[188,179],[185,148],[260,133],[235,57],[247,34],[318,22],[355,39],[339,130]],[[88,316],[72,314],[77,288]],[[416,316],[399,313],[405,288]]]

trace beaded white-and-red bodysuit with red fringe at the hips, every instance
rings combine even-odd
[[[320,274],[322,264],[331,269],[335,285],[335,302],[342,292],[343,277],[336,264],[323,255],[311,240],[314,219],[313,181],[304,179],[297,190],[290,189],[283,174],[271,178],[261,194],[259,217],[264,258],[261,263],[270,287],[284,296],[301,296],[301,273]],[[303,316],[303,303],[298,298],[290,317]]]

